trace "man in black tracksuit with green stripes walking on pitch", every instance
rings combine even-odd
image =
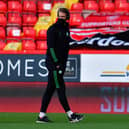
[[[70,122],[79,122],[83,115],[73,113],[69,107],[63,75],[68,58],[70,37],[68,20],[69,11],[66,8],[60,8],[57,12],[58,20],[47,31],[47,54],[46,66],[49,70],[48,85],[42,98],[41,109],[37,123],[51,122],[47,115],[47,107],[50,103],[54,91],[57,91],[59,101],[64,108]]]

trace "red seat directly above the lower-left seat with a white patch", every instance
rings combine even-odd
[[[19,13],[8,13],[7,25],[18,25],[21,26],[22,19]]]

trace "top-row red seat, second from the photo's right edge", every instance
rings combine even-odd
[[[99,3],[100,12],[114,12],[115,5],[113,2],[105,1]]]

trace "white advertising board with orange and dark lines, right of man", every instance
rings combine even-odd
[[[128,54],[82,54],[81,82],[129,82]]]

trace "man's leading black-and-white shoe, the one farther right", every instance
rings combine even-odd
[[[73,113],[73,114],[71,115],[71,117],[68,117],[68,119],[69,119],[69,121],[70,121],[71,123],[79,122],[79,121],[83,120],[83,118],[84,118],[83,115],[77,114],[77,113]]]

